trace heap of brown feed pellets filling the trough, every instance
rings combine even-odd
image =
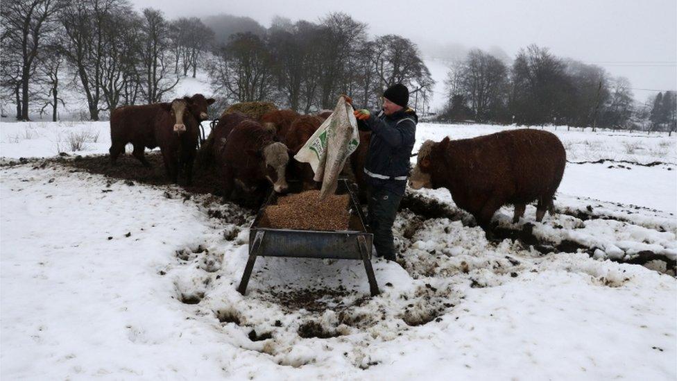
[[[262,225],[274,229],[348,230],[350,196],[333,194],[319,201],[320,191],[309,190],[277,198],[268,205]]]

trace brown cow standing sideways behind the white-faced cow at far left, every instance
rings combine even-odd
[[[191,112],[198,121],[207,119],[207,106],[214,99],[205,99],[203,94],[195,94],[190,98]],[[146,167],[151,164],[144,157],[144,149],[157,147],[155,139],[155,117],[161,108],[169,109],[169,103],[153,103],[151,105],[127,105],[116,108],[110,114],[110,162],[115,165],[118,156],[125,151],[125,146],[132,143],[132,155]]]

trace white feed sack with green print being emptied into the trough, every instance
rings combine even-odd
[[[300,162],[309,163],[315,172],[313,180],[322,182],[320,200],[336,192],[345,160],[358,145],[357,120],[352,114],[352,107],[343,96],[339,96],[332,115],[294,156]]]

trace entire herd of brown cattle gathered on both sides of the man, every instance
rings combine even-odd
[[[195,94],[169,103],[117,108],[110,117],[111,164],[116,164],[126,144],[131,143],[132,155],[150,167],[144,150],[159,146],[173,183],[178,183],[182,171],[186,184],[191,184],[198,157],[201,169],[216,173],[229,201],[261,201],[268,189],[286,192],[289,180],[302,184],[302,189],[317,189],[310,165],[294,160],[293,155],[331,111],[300,115],[265,103],[267,108],[259,108],[259,112],[239,112],[231,106],[198,153],[200,122],[207,119],[207,106],[212,103],[214,99]],[[370,133],[360,131],[360,145],[344,169],[345,176],[357,183],[363,201],[363,166],[369,142]],[[515,222],[532,201],[538,202],[537,221],[546,211],[552,214],[565,164],[563,144],[542,130],[506,130],[459,140],[445,137],[441,142],[422,144],[409,185],[414,189],[449,189],[456,205],[470,212],[489,233],[492,216],[502,205],[515,205]]]

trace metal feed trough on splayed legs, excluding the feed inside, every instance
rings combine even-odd
[[[291,193],[300,192],[300,184],[290,183]],[[295,189],[294,189],[295,188]],[[307,257],[337,260],[362,260],[367,272],[371,295],[379,294],[374,270],[371,266],[373,235],[367,231],[364,214],[360,207],[357,186],[348,180],[339,179],[336,194],[350,195],[350,221],[348,230],[295,230],[274,229],[262,222],[264,209],[277,203],[277,194],[271,192],[266,203],[259,210],[249,231],[249,260],[245,266],[242,280],[238,287],[240,294],[245,294],[249,278],[252,275],[254,262],[263,257]]]

